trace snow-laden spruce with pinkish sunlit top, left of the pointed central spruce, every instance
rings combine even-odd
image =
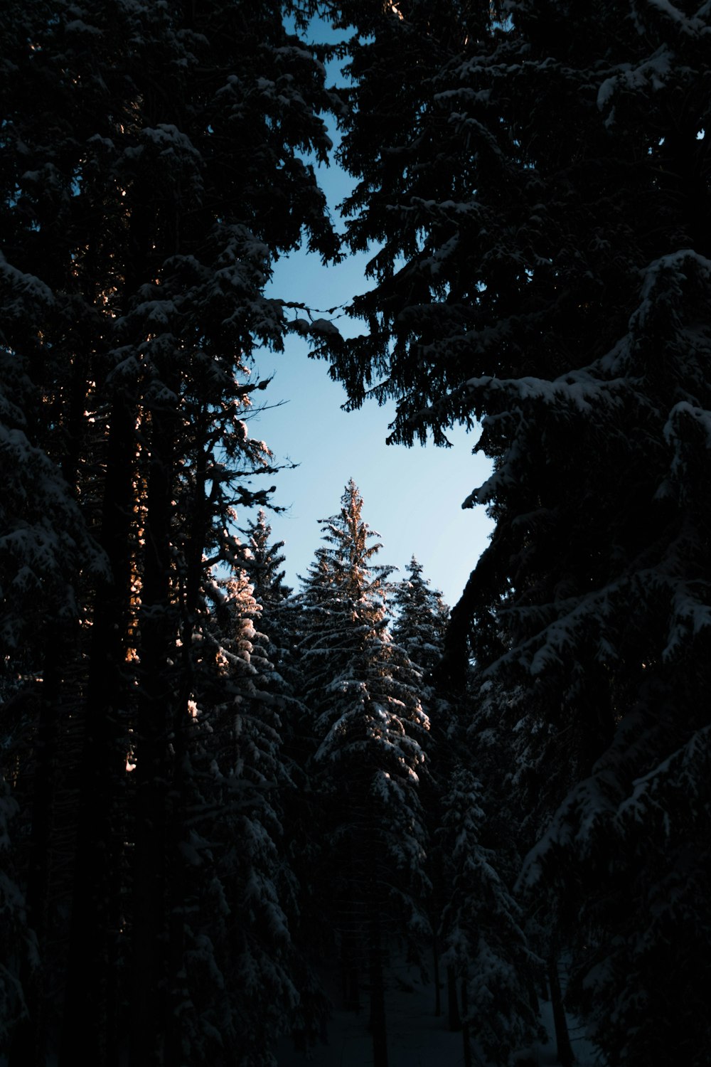
[[[196,640],[179,847],[184,969],[176,1012],[191,1063],[272,1067],[276,1038],[304,1026],[291,938],[289,795],[261,606],[244,570],[220,579]],[[238,993],[236,996],[236,992]]]

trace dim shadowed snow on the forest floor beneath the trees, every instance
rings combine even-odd
[[[446,997],[442,990],[442,1014],[437,1017],[434,985],[423,985],[416,972],[405,969],[390,972],[387,993],[388,1067],[463,1067],[462,1034],[447,1029]],[[553,1015],[550,1003],[540,1002],[542,1021],[549,1034],[547,1045],[530,1050],[530,1060],[538,1067],[558,1063]],[[599,1067],[592,1046],[581,1036],[577,1020],[569,1018],[570,1039],[578,1067]],[[368,996],[359,1014],[334,1010],[328,1023],[328,1044],[318,1045],[307,1053],[294,1052],[288,1039],[277,1048],[279,1067],[369,1067],[373,1062],[368,1031]],[[523,1056],[523,1053],[521,1053]],[[483,1067],[481,1060],[474,1061]]]

